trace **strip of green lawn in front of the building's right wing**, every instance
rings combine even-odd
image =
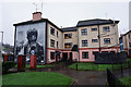
[[[128,59],[131,66],[131,59]],[[108,69],[110,70],[119,70],[121,69],[121,64],[95,64],[95,63],[78,63],[78,70],[95,70],[95,71],[106,71]],[[123,63],[122,67],[128,67],[128,63]],[[76,63],[69,66],[69,69],[76,70]]]

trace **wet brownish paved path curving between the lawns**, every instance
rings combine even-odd
[[[26,72],[56,72],[72,77],[75,83],[74,85],[103,85],[106,84],[106,72],[95,72],[95,71],[75,71],[70,70],[66,65],[58,65],[55,67],[41,67],[36,70],[26,70]]]

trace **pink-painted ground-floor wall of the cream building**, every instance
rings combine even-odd
[[[55,50],[48,49],[47,51],[48,51],[47,63],[56,62],[56,57],[55,57],[53,60],[50,59],[50,52],[55,52]],[[103,51],[108,51],[108,52],[115,51],[115,52],[117,52],[117,49],[116,48],[102,49],[102,52]],[[69,60],[70,59],[70,52],[72,52],[72,51],[60,51],[60,52],[61,52],[60,58],[62,58],[63,52],[67,52],[68,53],[68,60]],[[88,52],[88,59],[83,59],[82,58],[82,52]],[[94,62],[95,61],[95,55],[93,54],[93,52],[98,52],[98,49],[80,49],[79,54],[78,54],[78,52],[72,52],[72,60],[76,61],[76,59],[80,59],[79,62]]]

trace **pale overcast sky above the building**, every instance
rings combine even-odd
[[[41,0],[39,0],[40,2]],[[1,1],[0,2],[0,30],[4,32],[4,44],[14,44],[13,24],[32,20],[32,13],[35,12],[38,4],[38,11],[41,11],[38,0],[21,1]],[[91,18],[115,18],[120,21],[119,34],[129,30],[129,0],[114,2],[92,1],[44,1],[43,17],[48,18],[58,27],[75,26],[79,21]],[[1,41],[1,34],[0,34]]]

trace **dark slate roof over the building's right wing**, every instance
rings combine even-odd
[[[103,24],[112,24],[112,20],[100,20],[100,18],[94,18],[94,20],[85,20],[85,21],[79,21],[76,27],[81,26],[91,26],[91,25],[103,25]],[[119,23],[119,21],[115,21],[115,23]]]

